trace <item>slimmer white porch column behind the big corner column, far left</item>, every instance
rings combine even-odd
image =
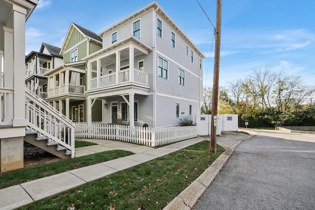
[[[13,29],[3,26],[4,32],[4,57],[3,57],[3,87],[13,89]],[[18,75],[18,71],[16,72]],[[25,78],[24,78],[25,79]],[[19,90],[16,90],[18,92]],[[14,91],[15,95],[15,91]],[[23,96],[24,98],[24,96]],[[9,94],[7,100],[9,100],[9,107],[13,107],[13,95]],[[23,102],[24,104],[25,102]],[[13,108],[14,109],[14,108]],[[9,109],[7,119],[13,119],[13,109]],[[24,116],[25,117],[25,116]]]

